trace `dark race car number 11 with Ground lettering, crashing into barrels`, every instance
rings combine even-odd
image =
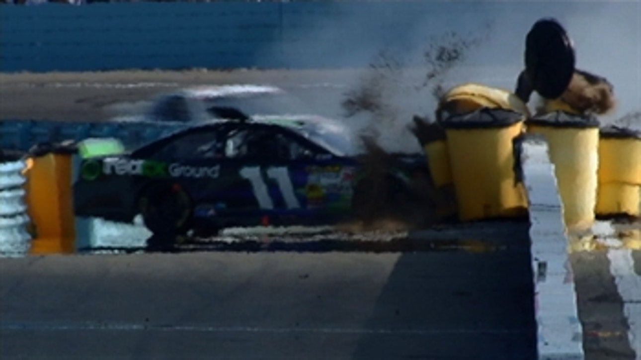
[[[200,124],[130,152],[92,155],[95,143],[79,144],[75,214],[126,222],[140,214],[162,245],[194,229],[401,216],[417,199],[412,180],[428,174],[420,153],[372,166],[343,124],[316,116]]]

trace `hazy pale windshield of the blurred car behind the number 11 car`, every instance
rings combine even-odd
[[[234,96],[210,98],[206,99],[206,106],[212,116],[219,116],[219,108],[237,108],[249,116],[305,114],[310,112],[303,101],[283,92],[238,94]]]

